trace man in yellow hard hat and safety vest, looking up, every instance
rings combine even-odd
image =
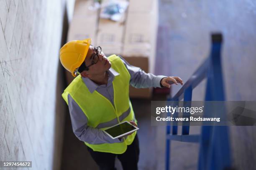
[[[124,170],[138,169],[136,132],[112,139],[102,130],[123,121],[137,126],[129,99],[129,85],[137,88],[170,87],[179,77],[155,76],[129,65],[122,57],[106,57],[91,39],[67,42],[60,49],[61,64],[75,77],[62,97],[69,106],[74,134],[82,140],[101,170],[114,170],[115,157]]]

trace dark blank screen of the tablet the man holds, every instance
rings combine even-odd
[[[134,130],[136,128],[134,128],[132,125],[130,125],[127,122],[124,122],[122,124],[116,125],[110,129],[105,130],[108,134],[110,134],[113,138],[123,135],[124,133],[128,133],[132,130]]]

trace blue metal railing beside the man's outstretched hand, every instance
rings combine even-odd
[[[210,56],[198,67],[192,77],[168,101],[192,100],[193,89],[207,79],[205,101],[224,101],[224,83],[221,70],[221,34],[212,34]],[[186,103],[186,102],[184,102]],[[189,102],[191,105],[191,102]],[[189,105],[186,105],[189,107]],[[174,114],[177,115],[177,114]],[[189,115],[183,114],[183,117]],[[171,131],[172,128],[172,131]],[[189,135],[189,124],[182,125],[182,134],[177,135],[177,124],[166,126],[166,170],[170,167],[170,145],[172,140],[200,143],[198,170],[223,170],[231,166],[230,145],[227,126],[202,126],[201,134]]]

